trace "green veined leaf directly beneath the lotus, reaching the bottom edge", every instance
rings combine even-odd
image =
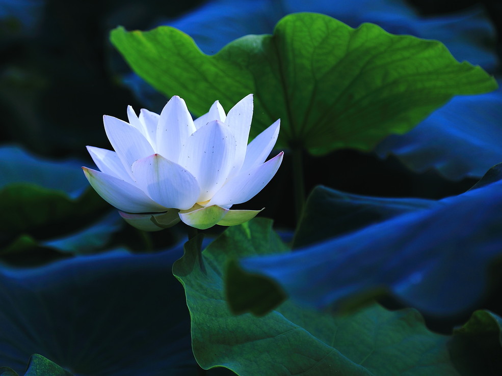
[[[185,245],[173,265],[192,319],[192,346],[205,369],[241,375],[457,374],[447,337],[429,332],[412,309],[389,312],[373,304],[333,316],[286,301],[263,317],[230,312],[225,269],[236,257],[287,252],[267,219],[228,228],[202,253],[201,237]]]

